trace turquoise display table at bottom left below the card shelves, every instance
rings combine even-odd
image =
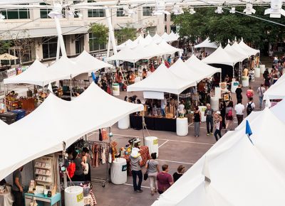
[[[40,205],[40,202],[48,202],[49,205],[55,205],[57,202],[61,206],[61,193],[56,193],[56,195],[53,195],[53,197],[45,197],[43,194],[32,194],[32,193],[25,193],[24,199],[25,199],[25,205],[30,206],[30,203],[33,201],[33,198],[35,198],[36,202],[38,202],[38,205]]]

